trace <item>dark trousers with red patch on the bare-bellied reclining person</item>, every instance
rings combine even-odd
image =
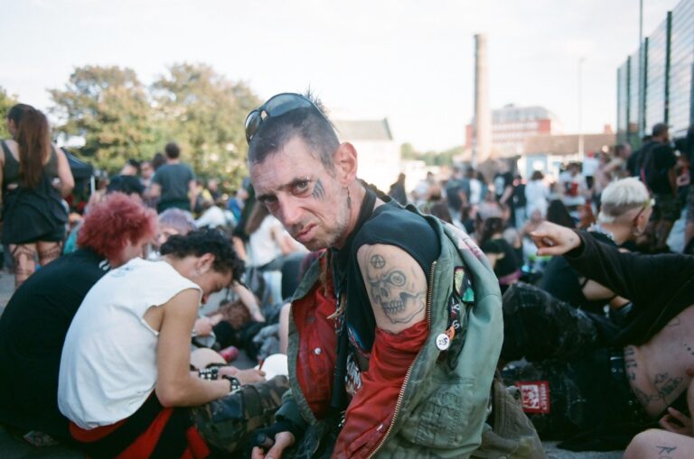
[[[529,363],[506,366],[502,378],[520,390],[543,440],[591,432],[622,441],[650,422],[626,379],[623,350],[606,344],[606,319],[523,283],[504,294],[503,316],[502,359]]]

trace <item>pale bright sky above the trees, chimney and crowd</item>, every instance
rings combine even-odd
[[[643,0],[644,35],[678,0]],[[492,107],[540,105],[577,132],[615,124],[616,69],[638,44],[638,0],[23,0],[0,15],[0,86],[51,105],[75,66],[150,83],[204,62],[260,96],[311,86],[338,118],[388,117],[398,142],[445,149],[473,115],[474,33],[488,35]]]

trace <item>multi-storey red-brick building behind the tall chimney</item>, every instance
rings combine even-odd
[[[473,145],[474,123],[465,129],[465,148]],[[525,139],[561,131],[558,119],[542,106],[508,105],[492,111],[492,157],[512,158],[524,152]]]

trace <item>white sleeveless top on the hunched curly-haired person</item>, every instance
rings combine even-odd
[[[143,317],[185,289],[201,290],[168,262],[139,258],[98,280],[62,348],[58,407],[65,417],[84,429],[108,426],[145,403],[156,384],[159,332]]]

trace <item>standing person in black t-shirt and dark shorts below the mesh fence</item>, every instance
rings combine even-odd
[[[655,124],[651,141],[643,145],[638,163],[639,176],[651,190],[655,199],[652,221],[648,230],[654,251],[667,249],[672,225],[680,218],[680,205],[677,202],[676,164],[677,157],[670,145],[668,125]]]

